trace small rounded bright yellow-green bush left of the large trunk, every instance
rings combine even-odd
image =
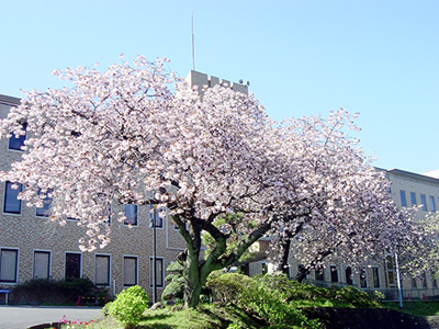
[[[111,303],[108,313],[124,328],[135,328],[142,320],[142,315],[148,308],[149,298],[145,291],[134,285],[122,291]]]

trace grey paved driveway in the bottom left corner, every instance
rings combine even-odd
[[[101,317],[100,307],[0,306],[0,329],[26,329],[31,326],[67,320],[90,321]]]

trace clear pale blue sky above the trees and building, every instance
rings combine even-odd
[[[54,69],[168,57],[250,90],[274,120],[359,112],[375,166],[439,169],[439,1],[0,0],[0,93],[60,88]]]

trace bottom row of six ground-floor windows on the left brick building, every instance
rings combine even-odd
[[[52,252],[45,250],[35,250],[33,256],[33,279],[49,279],[52,268]],[[154,268],[154,258],[149,259],[149,282],[153,286],[154,276],[156,286],[165,285],[165,259],[156,258]],[[138,257],[123,257],[123,285],[132,286],[138,284]],[[16,283],[19,271],[19,249],[0,249],[0,283]],[[66,279],[81,277],[82,254],[80,252],[66,252],[65,271]],[[155,274],[155,275],[154,275]],[[111,256],[95,254],[94,257],[94,283],[97,285],[111,285]]]

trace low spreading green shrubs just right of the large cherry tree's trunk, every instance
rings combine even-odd
[[[226,273],[207,282],[213,302],[263,319],[270,328],[319,328],[299,309],[303,306],[381,307],[380,296],[353,286],[323,288],[266,274]],[[247,328],[235,322],[230,328]]]

